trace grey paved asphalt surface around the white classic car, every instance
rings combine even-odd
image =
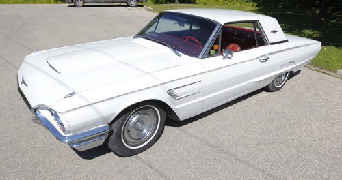
[[[31,123],[15,80],[25,55],[133,35],[154,16],[120,5],[0,5],[0,179],[342,178],[342,80],[306,68],[276,93],[169,122],[134,157],[73,151]]]

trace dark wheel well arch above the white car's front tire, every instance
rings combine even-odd
[[[132,104],[131,106],[128,106],[127,108],[124,108],[124,110],[122,110],[113,119],[113,121],[111,121],[111,123],[109,123],[109,125],[111,125],[116,120],[118,120],[125,112],[127,112],[127,110],[129,110],[129,108],[132,108],[132,107],[135,107],[135,106],[139,106],[140,104],[157,104],[157,106],[159,106],[160,108],[165,110],[166,118],[167,119],[172,119],[172,121],[180,121],[179,117],[176,115],[176,112],[174,112],[174,110],[172,110],[172,108],[170,108],[170,106],[168,104],[166,104],[165,102],[162,102],[161,100],[145,100],[145,101],[142,101],[142,102],[137,102],[135,104]]]

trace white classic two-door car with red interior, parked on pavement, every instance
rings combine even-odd
[[[126,157],[152,146],[166,118],[183,121],[263,87],[278,91],[320,49],[269,16],[167,10],[133,37],[27,55],[18,89],[33,121],[57,140],[79,150],[105,142]]]

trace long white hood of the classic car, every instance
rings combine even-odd
[[[79,44],[28,55],[18,70],[18,82],[31,106],[49,106],[69,93],[179,65],[172,57],[176,55],[166,46],[133,37]]]

